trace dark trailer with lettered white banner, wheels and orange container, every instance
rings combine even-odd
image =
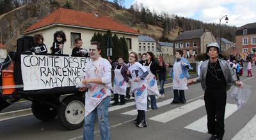
[[[84,92],[79,92],[85,57],[10,52],[1,63],[0,112],[20,99],[31,101],[33,115],[45,122],[56,117],[69,129],[83,127]],[[65,95],[64,99],[60,97]]]

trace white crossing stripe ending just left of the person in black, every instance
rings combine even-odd
[[[204,100],[198,99],[184,106],[180,106],[179,108],[175,108],[160,115],[153,116],[149,119],[157,122],[166,123],[202,106],[204,106]]]

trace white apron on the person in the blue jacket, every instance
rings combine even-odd
[[[180,62],[173,65],[173,90],[187,90],[187,78],[182,73]]]

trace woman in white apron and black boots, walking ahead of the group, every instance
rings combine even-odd
[[[136,52],[129,53],[129,68],[127,77],[131,81],[131,92],[134,93],[138,116],[134,123],[136,127],[147,127],[145,111],[147,111],[147,82],[145,80],[148,75],[147,69],[138,61]]]

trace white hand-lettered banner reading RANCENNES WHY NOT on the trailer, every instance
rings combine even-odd
[[[82,79],[85,57],[21,55],[24,90],[39,90],[77,85]]]

